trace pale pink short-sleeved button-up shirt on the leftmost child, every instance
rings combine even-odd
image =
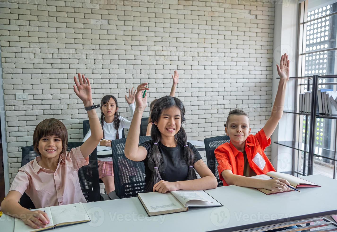
[[[86,203],[83,196],[78,170],[88,165],[89,158],[84,159],[80,147],[60,154],[55,172],[42,168],[36,157],[19,169],[9,189],[19,191],[31,198],[36,208],[73,203]]]

